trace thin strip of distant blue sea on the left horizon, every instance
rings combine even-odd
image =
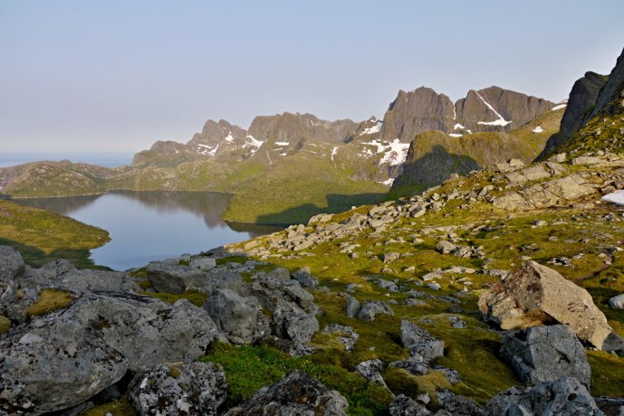
[[[83,162],[91,165],[117,167],[130,165],[132,154],[128,153],[28,153],[28,152],[0,152],[0,167],[22,165],[40,160],[58,162],[67,159],[72,162]]]

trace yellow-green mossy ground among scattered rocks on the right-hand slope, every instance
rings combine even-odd
[[[571,166],[571,171],[588,169]],[[492,179],[493,175],[487,173],[471,175],[443,184],[434,192],[449,194],[457,186],[463,190],[479,189],[490,184]],[[502,192],[506,191],[494,190],[494,194]],[[611,296],[624,292],[624,253],[613,249],[624,241],[624,225],[620,221],[605,220],[609,214],[622,219],[622,209],[600,204],[590,211],[556,208],[510,214],[496,210],[490,203],[473,203],[470,209],[460,208],[460,204],[459,201],[451,201],[442,211],[427,213],[416,220],[401,218],[381,235],[371,236],[370,231],[365,231],[354,237],[321,243],[307,249],[305,256],[296,256],[296,251],[294,258],[290,253],[272,252],[269,259],[274,265],[292,271],[308,266],[321,284],[331,289],[312,291],[316,303],[323,310],[321,327],[336,323],[352,326],[360,334],[354,351],[350,353],[341,348],[335,336],[314,336],[312,345],[318,351],[310,360],[353,371],[356,364],[373,358],[379,358],[386,364],[404,359],[408,352],[400,346],[399,326],[400,319],[407,318],[445,342],[445,356],[438,358],[435,364],[456,370],[462,380],[455,385],[445,384],[450,390],[485,404],[495,393],[512,385],[521,385],[513,370],[498,355],[501,345],[499,333],[483,323],[476,305],[481,289],[489,287],[496,278],[478,272],[485,265],[485,260],[458,259],[437,252],[436,244],[440,238],[454,239],[461,245],[482,246],[489,259],[489,269],[514,269],[527,258],[556,269],[564,277],[587,288],[608,317],[610,325],[624,336],[624,312],[607,305]],[[352,213],[367,211],[367,207],[360,207],[338,214],[332,221],[341,222]],[[546,225],[533,225],[537,220],[546,222]],[[460,228],[453,237],[435,231],[437,227],[465,224],[487,227],[478,232],[471,232],[472,227],[466,230]],[[424,232],[427,229],[430,232]],[[309,230],[312,231],[312,228]],[[414,242],[416,238],[419,240]],[[265,244],[269,238],[260,238],[259,241]],[[356,258],[341,252],[344,247],[341,243],[345,242],[349,245],[360,244],[353,250]],[[386,264],[382,260],[383,254],[389,251],[398,252],[401,257]],[[571,266],[550,264],[555,258],[570,259]],[[452,266],[472,268],[477,272],[446,274],[436,280],[441,286],[439,290],[427,288],[421,282],[424,274]],[[405,293],[379,288],[374,278],[394,280],[404,288],[414,288],[437,297],[456,294],[465,288],[468,292],[459,297],[463,311],[449,313],[450,304],[441,298],[422,298],[425,305],[408,306],[404,303],[408,297]],[[391,305],[395,316],[379,316],[373,322],[346,317],[346,299],[338,292],[349,283],[360,284],[354,293],[360,301],[396,301]],[[466,329],[451,326],[449,319],[452,316],[466,321]],[[624,359],[591,351],[588,354],[593,371],[591,392],[596,395],[621,395],[624,383],[624,365],[621,364],[624,364]],[[390,387],[397,389],[395,392],[409,394],[431,390],[433,386],[444,383],[435,373],[425,377],[408,377],[394,369],[388,370],[384,376]]]

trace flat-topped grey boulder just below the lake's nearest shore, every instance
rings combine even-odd
[[[201,269],[170,261],[150,261],[147,270],[149,282],[158,292],[180,294],[187,288],[203,288],[206,280]]]

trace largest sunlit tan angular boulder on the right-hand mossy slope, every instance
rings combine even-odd
[[[523,329],[552,321],[567,324],[581,341],[601,350],[624,349],[607,318],[584,288],[557,271],[525,261],[479,298],[484,319],[503,329]]]

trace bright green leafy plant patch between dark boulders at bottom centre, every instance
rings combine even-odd
[[[383,414],[392,400],[389,392],[340,366],[316,363],[309,357],[291,358],[269,346],[216,344],[199,361],[223,365],[229,383],[230,405],[250,398],[260,387],[280,380],[295,369],[342,392],[349,401],[351,415]]]

